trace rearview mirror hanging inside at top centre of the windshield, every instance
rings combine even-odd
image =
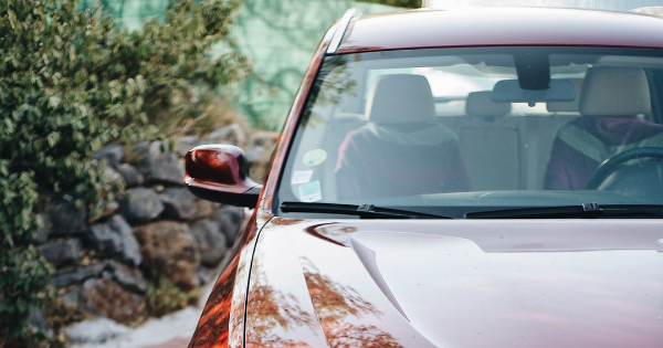
[[[517,80],[503,80],[495,84],[491,101],[495,103],[571,102],[576,99],[573,84],[568,80],[552,78],[547,89],[523,89]]]

